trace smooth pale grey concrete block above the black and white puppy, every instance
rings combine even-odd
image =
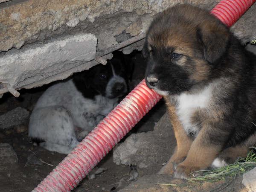
[[[0,55],[0,82],[19,88],[61,74],[92,60],[96,45],[94,35],[79,34],[9,50]]]

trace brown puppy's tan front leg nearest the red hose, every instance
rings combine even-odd
[[[175,151],[172,157],[169,159],[166,165],[163,166],[162,169],[160,169],[160,171],[158,172],[158,174],[164,174],[164,175],[169,175],[173,173],[175,165],[182,162],[186,158],[189,152],[189,148],[192,144],[192,140],[186,134],[185,130],[183,129],[183,126],[181,125],[177,117],[177,114],[175,112],[175,107],[168,102],[167,102],[167,105],[168,105],[168,111],[169,111],[170,119],[171,119],[172,126],[175,133],[175,138],[177,141],[177,146],[175,148]]]

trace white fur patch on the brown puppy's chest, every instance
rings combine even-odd
[[[192,124],[191,117],[197,109],[207,108],[212,97],[212,90],[213,86],[210,84],[199,93],[182,93],[177,96],[177,115],[188,134],[198,134],[199,128],[197,125]]]

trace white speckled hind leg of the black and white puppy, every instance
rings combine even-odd
[[[69,112],[61,106],[38,108],[29,121],[29,136],[44,140],[41,146],[68,154],[79,142]]]

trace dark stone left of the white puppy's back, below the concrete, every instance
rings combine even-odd
[[[0,129],[10,129],[27,122],[29,111],[17,107],[0,116]],[[22,132],[22,131],[21,131]]]

